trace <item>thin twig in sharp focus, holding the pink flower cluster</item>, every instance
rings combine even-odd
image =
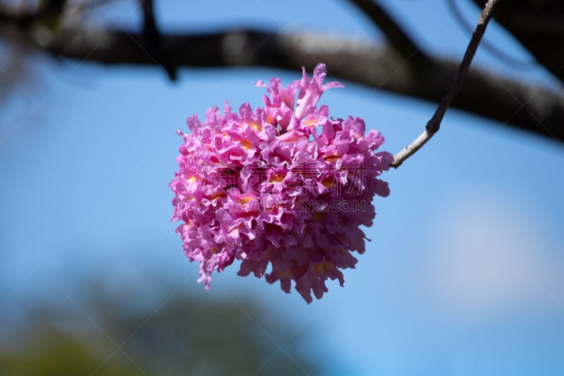
[[[405,159],[415,154],[417,150],[421,149],[421,147],[425,145],[437,131],[439,131],[441,121],[445,116],[446,110],[450,106],[450,103],[453,102],[453,99],[455,99],[458,91],[460,90],[460,87],[462,87],[466,73],[470,68],[470,63],[472,63],[472,59],[474,58],[474,54],[476,54],[476,50],[478,49],[480,41],[482,40],[482,36],[484,36],[484,32],[486,32],[486,26],[488,25],[489,20],[494,14],[494,10],[499,3],[501,3],[501,0],[488,0],[486,6],[484,6],[484,10],[482,10],[482,13],[480,13],[480,16],[478,18],[476,30],[474,30],[472,39],[470,40],[470,43],[466,48],[464,58],[462,59],[460,67],[455,74],[453,83],[451,83],[450,87],[448,87],[446,95],[443,97],[443,100],[441,100],[441,103],[439,104],[439,108],[436,109],[435,114],[433,115],[431,120],[427,122],[425,131],[421,135],[419,135],[419,137],[415,141],[413,141],[411,145],[406,146],[405,148],[403,148],[403,150],[398,152],[398,154],[393,157],[393,163],[391,164],[392,167],[397,169],[399,166],[401,166]]]

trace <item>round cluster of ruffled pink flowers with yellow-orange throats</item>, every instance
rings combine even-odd
[[[266,87],[264,108],[239,113],[226,103],[207,110],[206,119],[188,118],[191,133],[184,139],[177,162],[180,171],[170,187],[173,221],[182,221],[185,254],[200,262],[206,289],[212,272],[242,260],[241,276],[290,281],[310,303],[321,298],[328,278],[354,268],[352,251],[364,252],[364,232],[375,212],[374,195],[387,196],[388,183],[379,180],[393,156],[375,152],[384,143],[377,131],[365,134],[364,121],[329,118],[327,106],[317,107],[324,64],[310,80],[283,87],[279,78]],[[296,99],[296,94],[298,94]]]

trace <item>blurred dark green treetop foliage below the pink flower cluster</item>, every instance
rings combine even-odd
[[[4,320],[0,375],[317,375],[293,350],[299,338],[267,322],[248,302],[176,293],[134,306],[98,293],[79,306],[35,307],[17,325]],[[280,349],[275,338],[290,341]]]

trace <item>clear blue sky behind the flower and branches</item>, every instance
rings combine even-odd
[[[473,24],[477,9],[457,2]],[[345,1],[217,3],[159,1],[159,20],[173,30],[243,24],[380,38]],[[409,23],[424,49],[462,56],[469,35],[443,1],[382,4]],[[125,1],[99,16],[124,27],[139,20]],[[496,25],[486,40],[529,59]],[[558,87],[540,68],[508,67],[483,50],[474,65]],[[181,142],[175,132],[190,114],[203,116],[225,99],[235,108],[261,104],[255,80],[289,83],[300,73],[182,69],[173,85],[149,68],[48,59],[31,68],[39,81],[20,83],[1,109],[0,309],[37,298],[78,300],[83,275],[147,290],[159,276],[211,298],[252,297],[304,334],[304,351],[326,375],[563,372],[560,143],[450,109],[435,138],[384,175],[391,195],[375,201],[373,240],[357,269],[345,271],[344,288],[329,283],[321,301],[306,305],[295,291],[237,277],[233,266],[204,293],[169,222],[168,181]],[[343,83],[321,103],[333,116],[364,118],[391,152],[419,135],[436,108]]]

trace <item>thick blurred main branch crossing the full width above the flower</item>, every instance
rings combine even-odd
[[[30,40],[32,33],[17,25],[10,27],[9,16],[0,24],[0,36]],[[32,41],[27,44],[37,46]],[[307,32],[220,30],[162,34],[161,44],[173,66],[270,66],[296,71],[304,65],[312,69],[323,61],[336,78],[437,103],[459,65],[457,61],[431,58],[430,68],[417,71],[406,67],[393,49]],[[80,61],[157,66],[147,55],[147,40],[142,32],[94,28],[83,23],[64,25],[47,51]],[[564,97],[551,90],[470,68],[452,106],[564,141]]]

